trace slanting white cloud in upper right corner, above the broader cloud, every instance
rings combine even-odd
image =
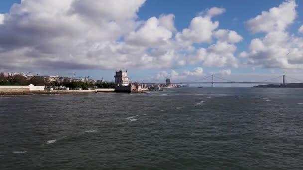
[[[284,31],[296,18],[296,6],[294,0],[287,0],[279,7],[263,11],[261,15],[248,20],[247,27],[254,33]]]

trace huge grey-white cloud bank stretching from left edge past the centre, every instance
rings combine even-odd
[[[0,14],[0,69],[238,66],[233,53],[235,43],[243,38],[232,30],[217,30],[219,21],[212,19],[224,13],[224,8],[207,9],[205,15],[194,17],[188,28],[178,32],[173,14],[139,20],[137,13],[144,3],[22,0],[9,13]],[[210,45],[196,49],[195,44],[202,43]]]

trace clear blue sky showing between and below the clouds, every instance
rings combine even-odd
[[[32,1],[32,0],[28,0]],[[47,1],[47,0],[46,0]],[[94,1],[91,1],[94,2]],[[139,7],[139,12],[136,13],[137,19],[135,21],[142,23],[147,22],[151,17],[155,16],[159,18],[162,14],[173,14],[175,16],[174,18],[174,26],[177,30],[177,32],[182,32],[183,29],[188,28],[192,19],[200,16],[201,13],[204,11],[204,14],[206,13],[207,9],[211,9],[213,7],[218,8],[224,8],[225,12],[222,14],[219,14],[217,16],[212,17],[212,21],[219,21],[219,26],[216,30],[219,29],[226,29],[226,30],[233,30],[236,31],[238,35],[240,35],[243,40],[240,42],[235,43],[237,50],[233,52],[234,57],[239,61],[239,66],[237,67],[231,67],[230,65],[224,65],[223,67],[216,66],[216,65],[207,65],[203,64],[203,62],[196,62],[192,64],[185,64],[185,65],[173,65],[169,67],[160,67],[160,68],[148,68],[148,66],[145,68],[137,68],[134,66],[128,66],[125,67],[125,69],[128,69],[129,73],[132,74],[131,77],[133,80],[137,81],[160,81],[156,80],[157,74],[159,72],[166,72],[164,77],[174,77],[171,73],[171,70],[174,70],[178,73],[178,76],[175,76],[175,79],[181,79],[186,76],[186,80],[195,79],[196,77],[203,77],[205,75],[209,75],[210,72],[216,72],[220,75],[220,71],[222,70],[230,70],[231,74],[222,75],[222,77],[230,78],[233,80],[239,80],[242,78],[247,78],[247,75],[251,75],[253,79],[262,79],[265,77],[275,77],[276,75],[282,75],[282,74],[291,74],[294,77],[300,77],[302,74],[302,68],[301,63],[298,63],[298,65],[293,66],[291,64],[288,64],[284,67],[284,65],[281,67],[280,65],[277,66],[277,64],[260,64],[262,61],[266,60],[260,60],[258,57],[262,57],[260,53],[260,56],[249,56],[252,59],[254,59],[258,65],[245,65],[245,63],[249,57],[240,58],[239,53],[242,51],[245,51],[247,53],[250,53],[249,46],[251,44],[251,40],[255,38],[263,39],[266,37],[267,34],[270,33],[270,31],[259,31],[256,33],[253,33],[252,31],[247,28],[246,22],[249,19],[253,19],[258,15],[261,15],[262,11],[269,11],[270,8],[278,7],[281,5],[285,0],[147,0]],[[287,1],[288,2],[288,1]],[[303,24],[303,14],[301,11],[303,11],[303,1],[297,0],[296,2],[296,13],[297,16],[294,19],[294,21],[291,24],[287,24],[287,28],[285,30],[282,30],[282,32],[287,32],[289,36],[295,36],[298,38],[298,40],[302,37],[302,34],[298,32],[299,27]],[[9,14],[10,7],[14,3],[20,3],[20,0],[1,0],[0,2],[0,13],[2,14]],[[82,4],[83,5],[83,4]],[[94,4],[88,4],[88,5],[94,5]],[[96,5],[97,6],[97,5]],[[43,8],[43,7],[42,7]],[[30,9],[30,8],[29,8]],[[100,9],[103,10],[103,9]],[[43,11],[43,9],[41,9]],[[118,11],[119,12],[119,11]],[[203,15],[203,14],[202,14]],[[95,16],[95,15],[94,15]],[[134,22],[135,22],[134,21]],[[5,23],[4,23],[5,24]],[[76,26],[76,25],[75,25]],[[140,30],[142,28],[142,24],[138,27],[136,27],[135,30]],[[1,29],[1,27],[0,27]],[[133,30],[134,31],[134,30]],[[175,39],[175,35],[177,32],[173,32],[173,36],[171,39]],[[47,34],[46,32],[42,32],[42,34]],[[128,33],[124,33],[124,38],[127,39]],[[43,36],[42,36],[43,37]],[[1,37],[0,37],[1,38]],[[119,38],[121,40],[121,37]],[[119,40],[117,40],[119,41]],[[216,40],[213,39],[212,43],[192,43],[192,46],[198,50],[199,48],[208,48],[209,46],[216,43]],[[36,45],[37,46],[37,45]],[[34,48],[36,48],[34,46]],[[1,44],[0,44],[1,47]],[[291,47],[290,47],[291,48]],[[295,47],[292,47],[292,49]],[[153,48],[152,48],[153,49]],[[290,50],[290,49],[288,49]],[[39,51],[39,49],[37,50]],[[13,53],[11,53],[13,54]],[[5,54],[7,55],[7,54]],[[14,54],[15,55],[15,54]],[[54,54],[55,55],[55,54]],[[1,57],[1,55],[0,55]],[[5,56],[4,56],[5,57]],[[4,58],[3,57],[3,58]],[[254,58],[255,57],[255,58]],[[299,56],[300,57],[300,56]],[[301,56],[303,58],[303,56]],[[16,57],[17,58],[17,57]],[[298,58],[298,57],[297,57]],[[30,60],[32,61],[32,60]],[[298,60],[299,61],[299,60]],[[173,62],[173,61],[172,61]],[[27,64],[27,63],[25,63]],[[28,63],[29,64],[29,63]],[[24,65],[24,64],[23,64]],[[30,64],[29,64],[30,65]],[[77,64],[80,65],[80,64]],[[10,72],[37,72],[40,75],[41,74],[57,74],[57,75],[67,75],[67,73],[76,73],[77,76],[90,76],[95,79],[99,79],[100,77],[104,77],[107,80],[113,79],[113,74],[115,69],[118,69],[119,67],[93,67],[93,69],[90,69],[90,67],[82,67],[77,68],[76,66],[72,66],[71,68],[39,68],[39,67],[3,67],[0,66],[0,71],[10,71]],[[193,72],[190,72],[190,74],[185,75],[186,70],[192,71],[194,68],[201,67],[203,68],[203,74],[195,74]],[[45,67],[46,68],[46,67]],[[124,69],[124,68],[123,68]],[[159,74],[158,74],[159,75]],[[193,76],[194,75],[194,76]],[[240,75],[240,76],[239,76]],[[182,77],[183,76],[183,77]],[[159,76],[160,77],[160,76]]]

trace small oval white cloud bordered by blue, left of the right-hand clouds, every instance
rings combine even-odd
[[[238,43],[243,40],[243,38],[236,32],[226,29],[220,29],[214,32],[214,37],[221,41],[227,41],[229,43]]]

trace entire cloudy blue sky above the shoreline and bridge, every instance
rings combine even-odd
[[[0,72],[300,79],[302,11],[303,0],[1,0]]]

